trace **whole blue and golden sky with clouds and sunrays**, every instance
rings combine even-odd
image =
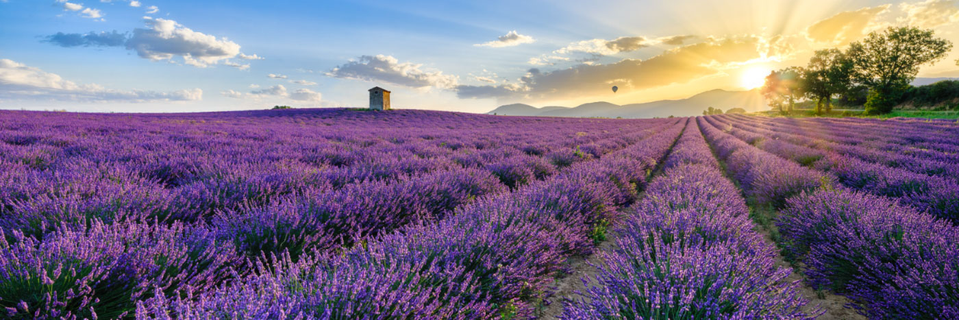
[[[0,109],[89,112],[366,107],[373,86],[394,108],[644,103],[751,89],[888,26],[959,48],[959,0],[0,0],[0,21]]]

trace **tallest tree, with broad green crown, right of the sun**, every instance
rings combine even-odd
[[[914,27],[890,27],[851,43],[847,57],[853,62],[853,78],[870,90],[866,113],[892,111],[909,82],[916,79],[919,66],[946,57],[949,49],[948,40]]]

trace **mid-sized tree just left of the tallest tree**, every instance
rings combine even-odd
[[[832,96],[843,94],[853,86],[853,62],[837,49],[819,50],[803,69],[803,92],[816,102],[816,113],[832,111]]]

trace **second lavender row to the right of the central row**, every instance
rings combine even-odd
[[[796,133],[786,134],[762,127],[750,127],[746,122],[729,122],[728,118],[723,117],[713,117],[708,121],[713,126],[728,127],[731,134],[760,149],[818,170],[828,171],[849,188],[898,198],[920,211],[952,221],[959,220],[959,180],[951,175],[927,175],[862,160],[858,156],[848,155],[849,151],[843,151],[850,149],[846,148],[849,147],[847,145],[833,143],[816,146],[812,139]],[[730,126],[733,124],[737,126]],[[790,143],[793,141],[800,142],[800,145]],[[937,172],[949,173],[956,171],[959,163],[941,163],[941,166],[948,169]]]

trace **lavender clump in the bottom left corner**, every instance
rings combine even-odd
[[[231,245],[178,223],[91,221],[44,240],[11,232],[0,238],[0,306],[14,319],[129,316],[154,292],[201,292],[239,263]]]

